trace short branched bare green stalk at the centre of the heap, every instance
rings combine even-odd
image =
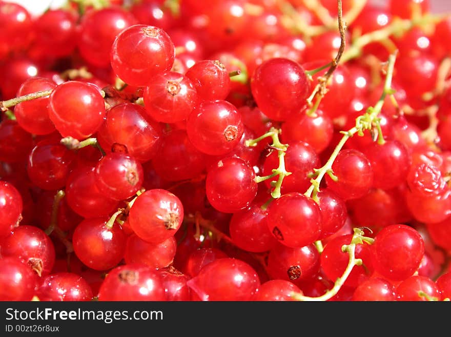
[[[273,140],[273,143],[270,145],[270,148],[277,150],[277,156],[279,158],[279,167],[276,169],[273,169],[273,173],[265,176],[256,176],[255,181],[257,183],[261,183],[265,180],[272,179],[275,176],[279,176],[276,182],[271,183],[273,186],[273,190],[271,191],[271,196],[273,199],[277,199],[280,197],[281,192],[280,189],[282,187],[283,179],[290,175],[291,172],[287,172],[285,169],[285,152],[286,149],[288,149],[288,144],[282,144],[279,140],[279,133],[280,130],[276,128],[271,128],[267,133],[263,134],[262,136],[255,138],[253,140],[247,140],[245,142],[246,146],[256,146],[258,142],[263,140],[266,137],[271,137]]]

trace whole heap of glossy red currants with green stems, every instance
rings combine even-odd
[[[451,16],[97,5],[0,1],[0,300],[451,298]]]

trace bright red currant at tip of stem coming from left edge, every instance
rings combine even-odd
[[[98,130],[105,114],[104,98],[95,85],[69,81],[50,94],[50,120],[63,137],[84,140]]]

